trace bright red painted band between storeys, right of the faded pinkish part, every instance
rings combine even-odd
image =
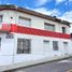
[[[70,39],[70,34],[40,30],[40,29],[28,28],[28,27],[16,26],[16,25],[11,25],[11,32],[26,33],[26,34],[33,34],[33,35],[41,35],[41,37],[60,38],[60,39]]]

